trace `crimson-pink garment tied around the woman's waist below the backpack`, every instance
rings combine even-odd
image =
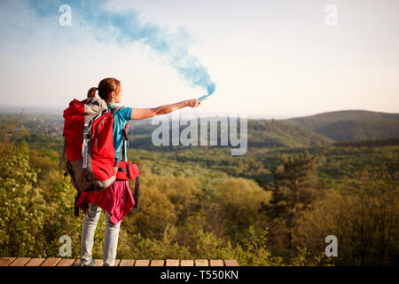
[[[113,225],[117,225],[135,205],[129,180],[115,180],[113,185],[98,193],[81,193],[76,206],[86,213],[88,203],[97,204],[99,208],[110,213]]]

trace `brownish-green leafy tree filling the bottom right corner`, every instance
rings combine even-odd
[[[399,186],[385,167],[367,167],[329,190],[298,221],[298,243],[314,254],[325,236],[338,238],[341,265],[397,265],[399,260]]]

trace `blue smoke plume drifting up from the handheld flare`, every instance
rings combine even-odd
[[[29,6],[39,17],[59,16],[59,6],[69,4],[72,15],[78,14],[88,28],[101,42],[114,42],[119,46],[135,42],[145,43],[168,58],[172,67],[192,86],[207,90],[210,95],[215,91],[215,83],[207,72],[207,67],[200,64],[195,56],[189,54],[188,40],[184,30],[168,33],[167,30],[151,23],[140,23],[137,12],[110,10],[108,0],[54,1],[30,0]]]

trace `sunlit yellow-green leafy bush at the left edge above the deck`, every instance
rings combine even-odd
[[[43,191],[26,144],[0,143],[0,255],[43,256]]]

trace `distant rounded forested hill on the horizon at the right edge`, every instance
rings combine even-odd
[[[289,119],[335,141],[399,138],[399,114],[348,110]]]

